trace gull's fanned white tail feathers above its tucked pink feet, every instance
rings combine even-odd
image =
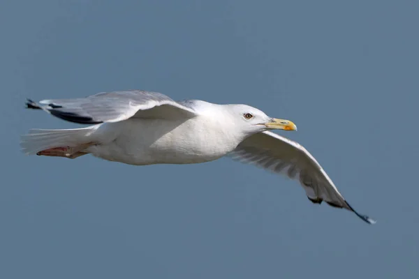
[[[96,126],[79,129],[31,129],[27,135],[20,138],[22,152],[34,155],[38,151],[52,149],[60,146],[76,147],[80,144],[91,142],[91,135]]]

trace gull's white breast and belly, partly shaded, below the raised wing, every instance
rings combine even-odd
[[[226,155],[242,141],[233,129],[207,116],[186,121],[133,118],[104,123],[98,130],[103,144],[89,151],[131,165],[203,163]]]

